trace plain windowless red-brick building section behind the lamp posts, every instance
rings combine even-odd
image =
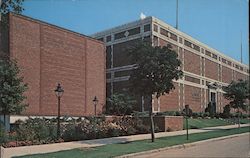
[[[57,115],[55,88],[61,83],[61,114],[94,114],[93,98],[101,113],[106,101],[103,42],[29,17],[9,14],[9,28],[1,28],[0,53],[18,62],[28,83],[23,115]]]

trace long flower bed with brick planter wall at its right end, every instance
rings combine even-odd
[[[182,130],[183,127],[181,116],[156,116],[154,121],[155,132]],[[0,143],[3,147],[18,147],[146,134],[150,133],[150,122],[149,117],[132,116],[61,119],[60,131],[58,139],[56,119],[29,118],[18,121]]]

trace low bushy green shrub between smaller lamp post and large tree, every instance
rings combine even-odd
[[[131,114],[136,104],[132,96],[124,93],[114,93],[107,99],[107,114],[126,115]]]

